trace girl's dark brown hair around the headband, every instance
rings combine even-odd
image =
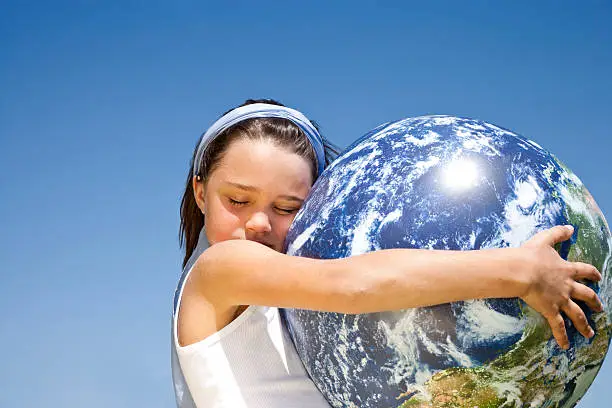
[[[284,106],[280,102],[273,99],[248,99],[240,106],[251,105],[253,103],[267,103],[270,105]],[[236,108],[240,106],[237,106]],[[223,115],[231,112],[233,109],[230,109]],[[311,123],[317,130],[319,130],[319,126],[316,124],[316,122],[311,121]],[[195,176],[193,174],[193,164],[200,140],[202,140],[202,136],[200,136],[200,139],[198,140],[198,143],[193,151],[189,172],[187,174],[187,181],[185,183],[185,192],[183,193],[183,199],[181,200],[179,245],[181,248],[185,248],[183,267],[185,267],[189,257],[195,250],[195,247],[198,244],[200,230],[202,227],[204,227],[204,215],[196,203],[192,184],[193,177]],[[311,163],[310,167],[312,169],[312,179],[316,180],[316,155],[304,132],[302,132],[302,130],[296,124],[288,119],[255,118],[247,119],[226,129],[215,137],[215,139],[208,145],[202,158],[202,164],[197,173],[197,176],[201,177],[200,182],[207,182],[208,177],[218,166],[229,145],[238,139],[268,140],[272,141],[279,147],[288,149]],[[323,139],[323,146],[325,148],[325,166],[327,167],[327,165],[329,165],[336,158],[336,156],[338,156],[339,149],[329,141],[325,140],[325,138]]]

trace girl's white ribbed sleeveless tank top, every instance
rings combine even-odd
[[[329,407],[308,378],[275,307],[249,306],[206,339],[185,347],[177,341],[184,283],[206,249],[198,248],[179,281],[172,318],[172,377],[179,408]],[[187,273],[185,273],[187,272]]]

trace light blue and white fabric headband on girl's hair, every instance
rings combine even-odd
[[[288,119],[296,124],[306,135],[312,145],[317,159],[317,175],[320,175],[325,168],[325,149],[323,138],[312,123],[302,113],[295,109],[284,106],[269,105],[267,103],[254,103],[233,109],[219,118],[211,127],[208,128],[198,145],[193,161],[193,174],[197,175],[202,165],[202,158],[206,148],[224,130],[235,124],[253,118],[282,118]]]

